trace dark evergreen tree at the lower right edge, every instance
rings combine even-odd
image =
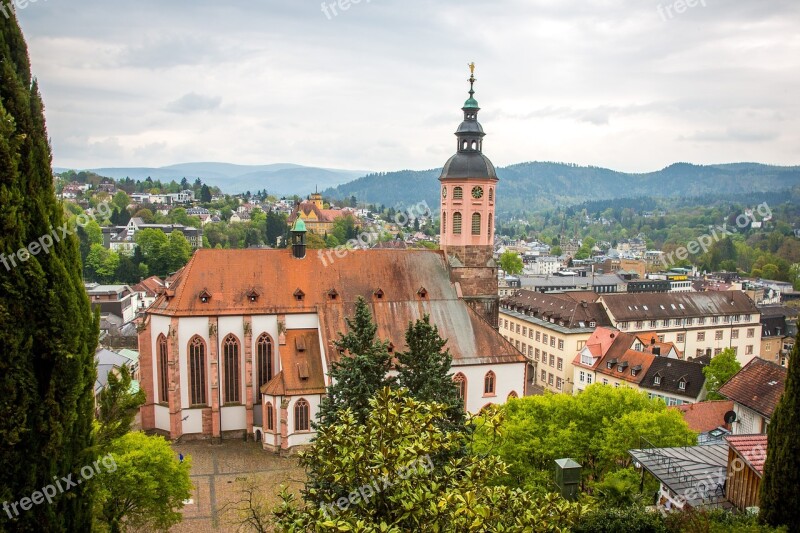
[[[759,518],[794,531],[800,523],[800,333],[789,357],[783,396],[767,426],[767,438]]]

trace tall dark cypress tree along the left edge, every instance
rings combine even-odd
[[[6,503],[0,531],[88,531],[91,483],[58,494],[52,504],[24,510],[19,503],[54,477],[75,480],[94,459],[98,324],[77,240],[59,229],[65,220],[43,105],[13,9],[6,11],[0,16],[0,505]],[[53,245],[45,253],[47,235]],[[31,243],[39,243],[29,248],[37,255],[18,252]]]

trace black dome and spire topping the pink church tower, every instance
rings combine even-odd
[[[473,68],[472,65],[470,68]],[[464,102],[464,122],[456,130],[458,146],[456,155],[447,160],[442,169],[440,180],[448,178],[494,178],[497,173],[494,165],[489,158],[483,155],[483,132],[480,122],[478,122],[478,101],[475,100],[475,75],[469,77],[469,98]]]

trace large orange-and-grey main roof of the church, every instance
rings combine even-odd
[[[363,296],[378,325],[378,336],[396,350],[406,347],[408,323],[426,313],[439,328],[453,365],[520,363],[525,357],[491,324],[459,299],[444,255],[437,250],[200,249],[172,285],[174,296],[159,296],[148,311],[168,316],[224,316],[314,313],[320,320],[328,364],[338,352],[333,341],[346,328],[355,301]],[[335,289],[336,297],[331,298]],[[378,290],[383,292],[378,298]],[[421,289],[425,289],[422,291]],[[259,296],[251,302],[248,294]],[[206,291],[206,303],[200,295]],[[295,296],[303,294],[302,299]]]

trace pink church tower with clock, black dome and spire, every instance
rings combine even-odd
[[[450,278],[464,300],[494,327],[500,297],[494,261],[494,211],[497,173],[483,155],[486,135],[478,122],[475,64],[470,64],[469,98],[464,121],[456,130],[456,154],[445,163],[441,182],[440,246],[450,265]]]

